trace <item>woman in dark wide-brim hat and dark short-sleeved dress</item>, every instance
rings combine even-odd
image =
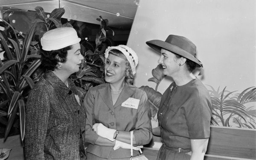
[[[202,67],[195,57],[196,46],[177,35],[146,44],[161,54],[158,63],[174,81],[161,99],[159,127],[152,129],[163,143],[157,160],[203,160],[210,136],[212,104],[204,84],[192,74],[196,67]]]

